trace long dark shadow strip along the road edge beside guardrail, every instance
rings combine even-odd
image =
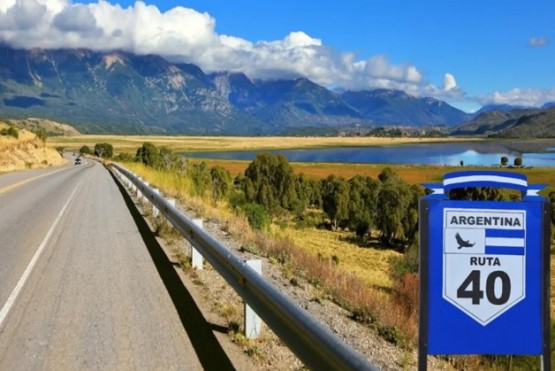
[[[231,363],[229,357],[212,332],[214,330],[214,325],[207,322],[202,315],[193,297],[189,291],[187,291],[183,282],[181,282],[179,275],[175,271],[173,262],[170,261],[162,249],[162,246],[160,246],[156,240],[154,233],[151,231],[139,209],[137,209],[137,206],[131,199],[131,196],[129,196],[124,186],[112,172],[110,172],[110,175],[114,179],[129,211],[131,212],[131,216],[133,217],[133,220],[139,229],[139,233],[148,248],[148,252],[150,253],[152,261],[158,270],[158,274],[170,294],[183,328],[189,336],[202,367],[205,370],[235,370],[235,367]],[[221,331],[222,329],[219,328],[217,330]]]

